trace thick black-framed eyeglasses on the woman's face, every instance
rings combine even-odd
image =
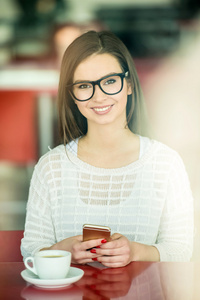
[[[69,85],[69,91],[78,101],[88,101],[95,93],[95,85],[107,95],[116,95],[121,92],[124,85],[124,78],[128,76],[128,71],[102,77],[96,81],[81,81]]]

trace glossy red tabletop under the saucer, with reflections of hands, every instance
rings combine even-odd
[[[61,290],[46,290],[23,280],[23,263],[0,263],[0,299],[200,299],[200,263],[133,262],[116,269],[73,266],[84,270],[81,280]]]

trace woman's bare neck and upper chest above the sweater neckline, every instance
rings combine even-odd
[[[78,157],[96,167],[119,168],[139,158],[139,137],[130,129],[89,130],[79,140]]]

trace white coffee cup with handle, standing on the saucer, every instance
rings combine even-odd
[[[28,263],[32,263],[32,267]],[[44,250],[29,256],[24,264],[40,279],[62,279],[67,276],[71,264],[71,252],[63,250]]]

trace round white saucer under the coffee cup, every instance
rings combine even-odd
[[[43,289],[60,289],[66,287],[81,279],[83,274],[83,270],[74,267],[70,267],[67,277],[63,279],[40,279],[28,269],[25,269],[21,272],[21,276],[24,280]]]

